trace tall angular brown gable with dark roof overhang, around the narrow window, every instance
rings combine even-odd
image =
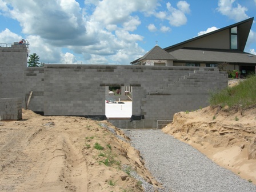
[[[246,19],[233,25],[203,34],[201,36],[177,43],[173,46],[166,47],[164,50],[171,52],[184,47],[205,48],[205,49],[230,49],[230,29],[238,29],[238,51],[245,49],[246,41],[250,33],[251,25],[254,18]],[[223,43],[225,46],[223,46]]]

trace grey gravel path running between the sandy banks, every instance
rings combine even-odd
[[[161,191],[251,192],[256,186],[218,166],[190,145],[161,130],[125,130],[147,168],[163,183]],[[149,192],[151,189],[146,189]]]

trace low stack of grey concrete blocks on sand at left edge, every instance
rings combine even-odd
[[[22,119],[22,98],[1,98],[0,119],[18,120]]]

